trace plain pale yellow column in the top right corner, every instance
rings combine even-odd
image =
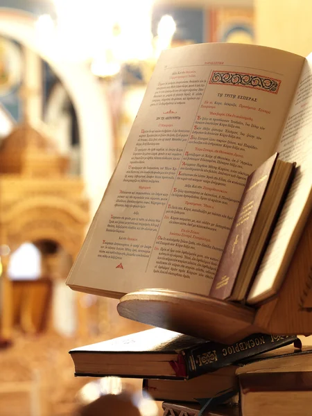
[[[256,42],[299,55],[312,51],[312,1],[254,0]]]

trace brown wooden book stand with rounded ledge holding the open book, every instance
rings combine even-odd
[[[123,296],[117,310],[124,318],[220,343],[234,343],[256,332],[311,335],[312,214],[278,295],[257,309],[202,295],[153,289]]]

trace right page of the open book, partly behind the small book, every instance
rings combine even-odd
[[[312,208],[312,53],[306,58],[297,92],[284,125],[281,159],[296,162],[295,179],[277,221],[247,302],[275,295],[291,261]]]

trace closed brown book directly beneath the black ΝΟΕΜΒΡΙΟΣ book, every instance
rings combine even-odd
[[[215,397],[221,391],[238,390],[236,368],[228,365],[190,380],[144,379],[142,390],[156,401],[196,402],[200,398]]]

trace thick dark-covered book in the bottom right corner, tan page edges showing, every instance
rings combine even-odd
[[[311,372],[263,372],[239,376],[242,416],[311,415]]]

